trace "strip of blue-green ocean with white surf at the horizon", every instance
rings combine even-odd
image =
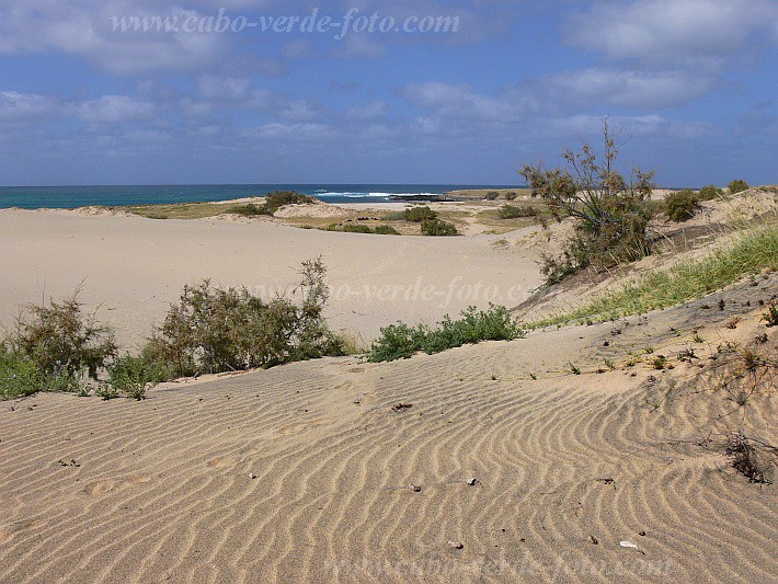
[[[511,188],[468,184],[193,184],[122,186],[0,186],[0,208],[69,209],[99,206],[155,205],[228,201],[273,191],[297,191],[325,203],[385,203],[397,195],[423,197],[461,188]]]

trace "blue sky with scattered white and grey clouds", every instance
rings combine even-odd
[[[0,3],[0,185],[519,184],[605,117],[626,173],[767,184],[777,96],[771,0]]]

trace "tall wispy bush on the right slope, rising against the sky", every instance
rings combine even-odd
[[[616,170],[617,133],[605,121],[602,161],[588,144],[580,152],[567,149],[568,169],[548,170],[540,163],[519,171],[542,198],[557,220],[572,217],[574,234],[560,257],[546,256],[541,266],[548,284],[560,282],[581,268],[607,268],[643,257],[651,250],[648,234],[652,208],[653,172],[634,171],[628,184]],[[572,170],[572,172],[571,172]]]

